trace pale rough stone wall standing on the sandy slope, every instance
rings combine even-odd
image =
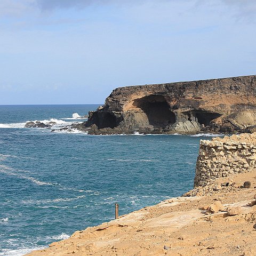
[[[256,167],[256,132],[201,140],[194,186],[205,186],[216,178],[250,172]]]

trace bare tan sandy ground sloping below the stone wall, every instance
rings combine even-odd
[[[251,181],[251,188],[240,187],[244,181]],[[223,186],[224,182],[229,185]],[[170,198],[76,231],[68,239],[27,255],[256,255],[254,187],[256,171],[222,178],[189,191],[187,197]],[[217,201],[224,205],[222,209],[216,209]],[[212,210],[205,210],[208,206]]]

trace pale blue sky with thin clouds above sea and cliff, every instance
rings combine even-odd
[[[0,0],[0,105],[256,74],[253,0]]]

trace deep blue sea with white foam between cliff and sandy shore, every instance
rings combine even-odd
[[[83,122],[79,116],[98,106],[0,106],[0,255],[23,255],[112,220],[116,202],[126,214],[193,188],[204,137],[24,127]]]

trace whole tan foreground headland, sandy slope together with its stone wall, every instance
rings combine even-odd
[[[201,140],[194,189],[27,255],[256,255],[255,138]]]

